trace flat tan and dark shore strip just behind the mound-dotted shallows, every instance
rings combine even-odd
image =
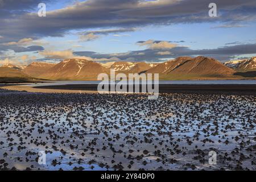
[[[43,93],[98,93],[97,84],[68,84],[48,86],[0,85],[2,89]],[[159,85],[159,93],[218,93],[255,95],[255,85]]]

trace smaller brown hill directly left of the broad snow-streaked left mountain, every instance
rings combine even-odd
[[[39,75],[47,72],[48,69],[54,67],[55,65],[56,64],[52,63],[33,62],[23,69],[23,73],[26,73],[27,75],[32,77],[38,77]]]

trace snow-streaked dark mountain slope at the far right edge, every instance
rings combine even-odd
[[[256,57],[251,57],[245,60],[234,60],[224,63],[229,68],[238,72],[251,72],[256,71]]]

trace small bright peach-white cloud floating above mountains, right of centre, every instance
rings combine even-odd
[[[147,46],[150,49],[172,49],[177,46],[177,44],[172,44],[167,41],[155,41],[155,40],[147,40],[137,42],[139,46]]]

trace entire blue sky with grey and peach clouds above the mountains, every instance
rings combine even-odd
[[[46,16],[39,16],[39,3]],[[0,64],[256,55],[256,1],[0,0]],[[42,11],[40,11],[42,12]]]

